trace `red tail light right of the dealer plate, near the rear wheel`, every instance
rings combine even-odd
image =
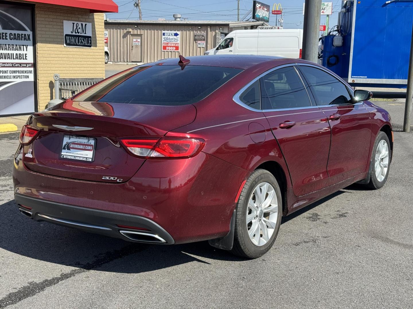
[[[181,159],[196,156],[205,145],[200,138],[169,137],[125,138],[121,143],[138,157],[145,159]]]

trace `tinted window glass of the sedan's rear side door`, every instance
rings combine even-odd
[[[266,110],[311,106],[309,96],[293,66],[280,68],[262,77]]]

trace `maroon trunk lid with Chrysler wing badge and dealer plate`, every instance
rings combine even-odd
[[[131,155],[119,143],[120,137],[163,136],[193,122],[195,115],[193,105],[67,100],[53,110],[32,116],[31,125],[40,133],[33,143],[24,146],[23,162],[31,171],[52,176],[122,183],[138,171],[145,159]],[[75,153],[82,150],[88,158],[67,155],[70,151],[63,148]]]

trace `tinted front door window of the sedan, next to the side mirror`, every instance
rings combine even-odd
[[[318,68],[300,66],[304,78],[310,85],[317,105],[350,104],[347,87],[334,76]]]

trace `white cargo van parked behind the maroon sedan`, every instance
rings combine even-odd
[[[230,32],[205,55],[265,55],[301,58],[302,29],[252,29]]]

